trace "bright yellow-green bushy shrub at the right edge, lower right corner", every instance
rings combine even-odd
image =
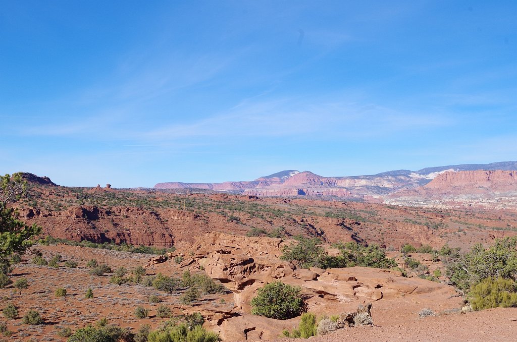
[[[469,293],[474,310],[517,306],[517,287],[514,281],[504,278],[486,278],[474,285]]]

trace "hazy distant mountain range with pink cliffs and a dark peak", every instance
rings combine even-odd
[[[250,196],[379,197],[428,184],[445,172],[473,170],[515,170],[517,162],[462,164],[422,168],[417,171],[393,170],[376,175],[323,177],[309,171],[284,170],[252,181],[223,183],[165,182],[156,189],[203,189]]]

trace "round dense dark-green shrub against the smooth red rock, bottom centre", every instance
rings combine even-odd
[[[251,313],[275,319],[288,319],[298,316],[304,304],[300,287],[271,282],[257,290],[257,296],[251,300]]]

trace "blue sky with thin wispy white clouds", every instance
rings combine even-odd
[[[514,1],[2,1],[0,173],[62,185],[516,160]]]

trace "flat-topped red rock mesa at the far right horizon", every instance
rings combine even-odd
[[[425,188],[444,189],[458,186],[488,187],[500,185],[517,186],[515,170],[475,170],[445,172],[436,176]]]

